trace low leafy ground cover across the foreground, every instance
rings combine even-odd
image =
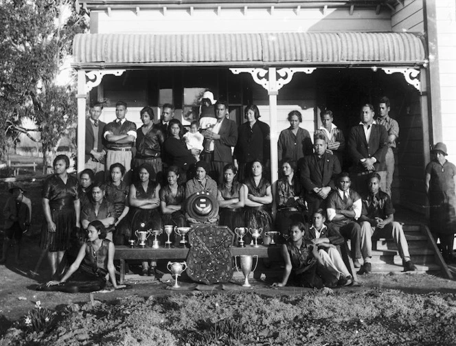
[[[130,296],[69,305],[54,330],[16,323],[0,345],[452,345],[456,295],[397,290]],[[35,343],[32,343],[32,341]]]

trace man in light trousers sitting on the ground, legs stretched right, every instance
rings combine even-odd
[[[339,285],[348,286],[353,283],[352,275],[343,263],[341,254],[336,246],[343,244],[343,236],[334,229],[328,229],[324,222],[326,213],[319,208],[312,215],[312,226],[306,230],[304,240],[318,246],[318,253],[326,268],[339,272]]]

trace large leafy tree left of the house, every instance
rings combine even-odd
[[[71,0],[0,0],[1,154],[25,133],[43,145],[43,170],[52,163],[62,134],[76,121],[75,80],[56,77],[73,37],[87,30],[87,16]],[[23,128],[32,119],[36,128]],[[41,139],[30,135],[41,132]],[[0,154],[0,155],[1,155]]]

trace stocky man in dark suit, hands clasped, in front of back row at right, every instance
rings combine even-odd
[[[317,134],[314,137],[315,154],[301,160],[301,185],[306,190],[309,216],[319,208],[326,208],[326,198],[335,190],[334,179],[341,172],[341,164],[335,155],[326,152],[326,137]]]

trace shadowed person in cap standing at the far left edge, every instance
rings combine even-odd
[[[16,242],[15,259],[16,263],[20,261],[21,240],[22,235],[30,227],[32,218],[32,202],[30,198],[24,196],[24,190],[18,185],[13,185],[10,188],[12,196],[6,201],[3,207],[3,217],[5,218],[5,238],[3,238],[3,252],[0,259],[0,264],[6,262],[8,249],[11,241]]]

